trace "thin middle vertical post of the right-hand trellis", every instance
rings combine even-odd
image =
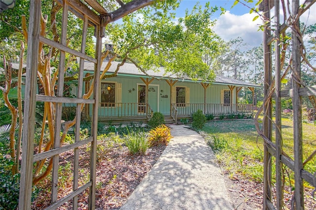
[[[280,17],[279,17],[279,0],[275,0],[275,82],[276,82],[276,209],[282,209],[283,206],[283,190],[282,190],[282,133],[281,133],[281,61],[280,61]]]

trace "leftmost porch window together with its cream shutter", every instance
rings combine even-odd
[[[121,84],[117,82],[101,82],[100,88],[101,106],[114,107],[121,106]]]

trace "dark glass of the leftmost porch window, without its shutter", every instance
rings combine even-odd
[[[101,83],[101,106],[115,106],[115,83]]]

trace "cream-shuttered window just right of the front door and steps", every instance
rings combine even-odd
[[[189,106],[190,88],[184,86],[173,86],[171,103],[175,103],[177,106]]]

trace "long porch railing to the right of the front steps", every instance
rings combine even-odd
[[[177,110],[178,116],[191,116],[198,109],[204,114],[229,114],[229,113],[253,113],[253,105],[250,104],[172,104]]]

